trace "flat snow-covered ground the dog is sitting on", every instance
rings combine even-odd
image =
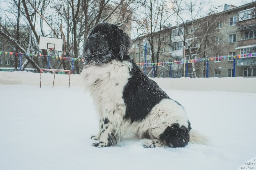
[[[143,148],[125,138],[95,148],[92,99],[83,88],[0,85],[0,169],[237,169],[256,156],[256,94],[165,90],[209,145]]]

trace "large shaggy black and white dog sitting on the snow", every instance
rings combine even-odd
[[[204,144],[180,103],[127,55],[130,47],[129,36],[108,23],[96,25],[85,43],[82,76],[99,113],[99,132],[92,136],[99,142],[93,146],[115,146],[127,133],[150,138],[144,147]]]

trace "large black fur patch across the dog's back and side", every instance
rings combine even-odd
[[[125,119],[130,119],[132,123],[142,121],[156,104],[163,99],[170,98],[128,57],[124,59],[132,63],[132,70],[130,71],[131,78],[124,87],[123,98],[126,105]]]

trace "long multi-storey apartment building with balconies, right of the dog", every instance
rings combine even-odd
[[[208,62],[209,77],[231,77],[234,76],[235,58],[235,76],[255,77],[255,6],[255,3],[238,7],[226,4],[220,13],[165,28],[161,31],[159,61],[154,65],[159,69],[154,76],[182,77],[185,68],[188,77],[206,77]],[[145,37],[140,37],[131,51],[131,56],[136,63],[140,63],[142,71],[145,68],[146,42]],[[154,49],[158,42],[159,39],[154,39]],[[147,47],[147,51],[146,62],[152,63],[150,47]],[[208,61],[209,58],[211,60]],[[152,76],[154,66],[146,64],[146,74]]]

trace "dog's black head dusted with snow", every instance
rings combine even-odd
[[[84,64],[101,65],[113,59],[123,60],[129,52],[131,40],[117,25],[97,24],[84,46]]]

